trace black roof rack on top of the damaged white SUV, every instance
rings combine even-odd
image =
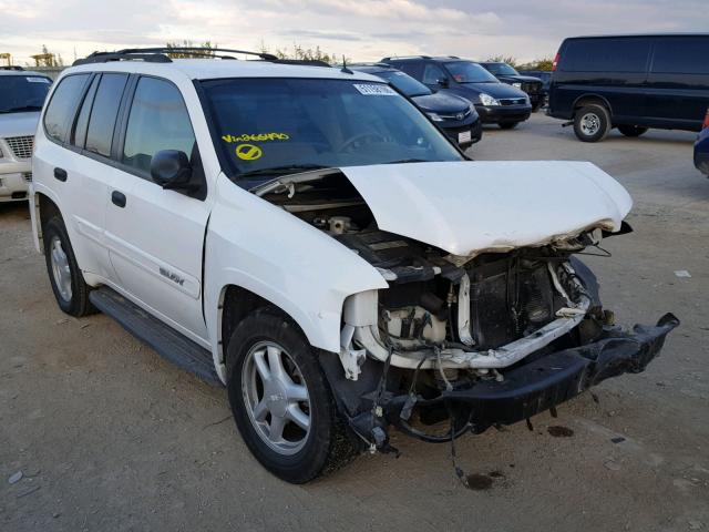
[[[217,58],[217,59],[237,59],[234,55],[217,54],[214,52],[240,53],[246,55],[256,55],[264,61],[278,61],[278,58],[271,53],[248,52],[246,50],[232,50],[228,48],[198,48],[198,47],[175,47],[175,48],[126,48],[115,52],[93,52],[92,54],[78,59],[73,62],[73,66],[91,63],[107,63],[110,61],[133,61],[142,60],[148,63],[172,63],[171,53],[187,53],[195,58]]]

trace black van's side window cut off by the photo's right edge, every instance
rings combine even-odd
[[[655,43],[653,72],[709,74],[709,38],[672,37]]]

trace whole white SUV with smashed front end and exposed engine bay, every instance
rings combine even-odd
[[[275,474],[390,450],[392,426],[450,441],[528,419],[658,355],[677,319],[614,327],[574,257],[629,231],[610,176],[467,161],[379,79],[257,55],[65,70],[33,228],[60,307],[226,385]]]

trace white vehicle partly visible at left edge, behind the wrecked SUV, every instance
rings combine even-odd
[[[52,80],[20,68],[0,68],[0,202],[27,200],[32,145]]]

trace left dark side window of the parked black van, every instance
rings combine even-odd
[[[565,72],[645,72],[648,39],[572,39],[562,51]]]

